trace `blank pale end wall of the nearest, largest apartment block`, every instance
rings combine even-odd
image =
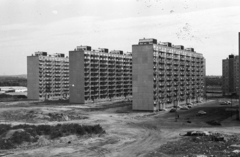
[[[153,111],[153,45],[133,45],[132,55],[133,110]]]

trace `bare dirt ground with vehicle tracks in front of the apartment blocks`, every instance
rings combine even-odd
[[[106,134],[97,136],[68,136],[40,144],[25,144],[18,149],[0,150],[0,156],[168,157],[171,155],[163,154],[159,148],[167,142],[179,140],[180,135],[189,130],[240,136],[240,122],[235,120],[234,111],[238,102],[234,101],[233,106],[222,106],[218,101],[208,100],[194,105],[190,110],[179,110],[177,120],[175,113],[167,111],[155,114],[132,111],[131,102],[128,101],[88,105],[69,105],[66,102],[0,102],[1,123],[100,124],[106,131]],[[204,110],[207,115],[196,116],[199,110]],[[209,120],[217,120],[221,126],[209,125],[206,123]]]

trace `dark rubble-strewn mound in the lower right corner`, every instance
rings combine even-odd
[[[158,151],[168,155],[240,156],[240,136],[208,131],[189,131],[180,140],[168,142]],[[233,147],[238,146],[239,147]]]

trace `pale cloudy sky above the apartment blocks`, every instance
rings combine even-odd
[[[238,54],[239,0],[0,0],[0,75],[27,73],[36,51],[78,45],[132,51],[140,38],[193,47],[206,74]]]

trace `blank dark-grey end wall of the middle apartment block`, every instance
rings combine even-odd
[[[69,51],[70,103],[84,104],[84,51]]]

